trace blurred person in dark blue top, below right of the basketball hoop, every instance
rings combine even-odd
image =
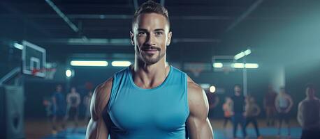
[[[56,92],[52,93],[52,133],[57,133],[57,125],[60,123],[61,128],[65,128],[64,117],[66,116],[66,99],[61,92],[62,86],[57,85]]]

